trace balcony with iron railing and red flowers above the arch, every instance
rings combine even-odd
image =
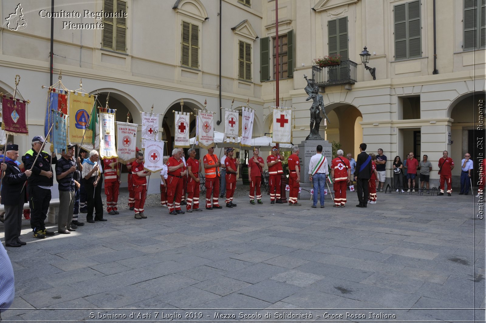
[[[312,66],[315,85],[330,86],[337,84],[354,84],[356,82],[356,67],[351,60],[342,60],[340,65],[319,67]]]

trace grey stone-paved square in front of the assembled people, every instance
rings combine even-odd
[[[16,297],[3,322],[485,320],[485,220],[471,195],[378,193],[362,209],[348,192],[345,208],[313,209],[250,205],[240,185],[236,208],[169,215],[150,195],[139,220],[126,195],[120,215],[71,234],[35,239],[24,221],[27,245],[7,248]]]

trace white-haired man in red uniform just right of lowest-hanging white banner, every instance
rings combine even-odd
[[[172,150],[172,157],[167,161],[167,206],[172,215],[184,214],[181,210],[182,178],[186,176],[186,166],[182,161],[180,148]]]

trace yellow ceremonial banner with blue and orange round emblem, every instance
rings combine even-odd
[[[96,112],[94,104],[94,95],[79,92],[69,95],[69,143],[83,143],[89,150],[93,149],[93,131],[88,127],[88,123],[91,112]]]

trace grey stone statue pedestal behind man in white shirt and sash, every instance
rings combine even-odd
[[[316,154],[315,148],[317,145],[322,145],[322,154],[326,157],[328,165],[330,166],[332,161],[332,144],[327,140],[305,140],[298,144],[300,149],[299,159],[300,159],[300,187],[302,191],[300,192],[299,199],[309,199],[311,197],[312,181],[309,180],[309,163],[311,162],[311,157]],[[328,182],[329,184],[329,182]],[[329,189],[332,190],[332,185],[326,184],[326,189],[328,189],[328,196],[326,199],[331,199]]]

